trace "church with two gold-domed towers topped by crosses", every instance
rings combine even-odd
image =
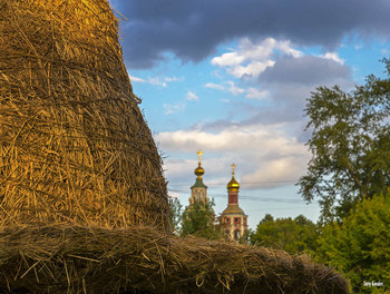
[[[196,200],[203,203],[209,202],[207,186],[203,183],[202,177],[205,173],[202,167],[203,153],[199,149],[196,154],[198,155],[198,166],[194,170],[196,179],[195,184],[191,187],[189,205],[194,204]],[[221,229],[232,241],[238,241],[244,235],[245,231],[247,231],[247,215],[245,215],[244,210],[238,206],[240,183],[234,177],[235,168],[236,165],[232,164],[232,179],[226,185],[227,207],[217,217]]]

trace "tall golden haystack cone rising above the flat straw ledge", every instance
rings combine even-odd
[[[106,0],[0,0],[0,225],[168,227]]]

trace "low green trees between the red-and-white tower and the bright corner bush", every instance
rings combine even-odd
[[[312,252],[316,245],[316,226],[303,215],[276,218],[267,214],[251,235],[251,243],[259,246],[280,248],[291,254]]]

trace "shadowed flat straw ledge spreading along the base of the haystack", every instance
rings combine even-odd
[[[9,227],[0,244],[6,293],[349,293],[304,256],[150,227]]]

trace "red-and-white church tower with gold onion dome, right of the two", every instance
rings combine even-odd
[[[227,183],[227,207],[220,216],[222,229],[230,239],[240,239],[247,229],[247,215],[238,206],[240,184],[234,177],[236,165],[232,164],[232,179]]]

